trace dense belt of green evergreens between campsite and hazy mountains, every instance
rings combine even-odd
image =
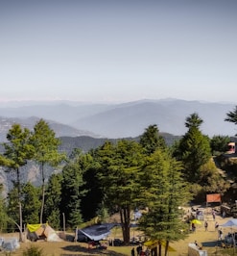
[[[232,112],[227,116],[227,121],[236,120]],[[130,243],[130,215],[138,209],[143,211],[139,229],[146,236],[185,238],[188,233],[178,233],[188,230],[180,221],[180,206],[203,203],[207,193],[225,198],[233,192],[232,181],[212,158],[213,153],[224,155],[230,138],[208,138],[202,122],[193,113],[186,116],[187,132],[181,137],[163,134],[153,124],[139,137],[116,140],[58,138],[43,119],[32,131],[12,124],[0,154],[2,178],[8,172],[12,183],[7,200],[0,200],[0,227],[8,230],[19,223],[22,235],[24,223],[47,221],[71,229],[119,213],[124,242]]]

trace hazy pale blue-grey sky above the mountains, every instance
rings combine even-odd
[[[0,0],[0,100],[237,99],[236,0]]]

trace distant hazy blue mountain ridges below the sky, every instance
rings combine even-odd
[[[139,100],[121,104],[84,104],[80,102],[17,102],[0,103],[0,120],[17,118],[21,123],[29,118],[44,118],[59,137],[91,136],[94,138],[138,137],[151,124],[159,131],[175,136],[185,134],[185,118],[198,113],[203,123],[201,131],[213,135],[233,136],[234,124],[226,122],[232,103],[210,103],[179,99]],[[36,117],[31,117],[36,116]],[[0,121],[0,139],[2,125]]]

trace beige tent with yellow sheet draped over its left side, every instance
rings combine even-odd
[[[45,240],[61,242],[56,231],[49,224],[27,224],[27,239],[31,241]]]

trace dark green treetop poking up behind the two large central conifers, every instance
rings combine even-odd
[[[157,148],[165,148],[165,140],[159,136],[157,126],[150,125],[140,137],[140,144],[145,149],[145,152],[150,155],[154,153]]]

